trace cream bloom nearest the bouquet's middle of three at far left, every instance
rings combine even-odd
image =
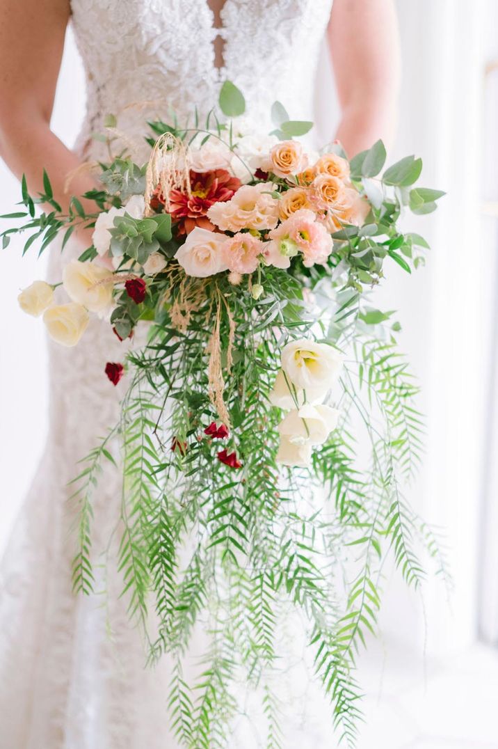
[[[73,302],[90,312],[105,312],[112,304],[114,273],[95,263],[72,260],[62,271],[62,285]]]

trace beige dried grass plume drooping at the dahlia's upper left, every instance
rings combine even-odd
[[[159,186],[166,210],[170,208],[169,196],[172,189],[179,189],[190,195],[189,148],[173,133],[164,133],[157,139],[145,175],[145,210],[150,216],[151,198]]]

